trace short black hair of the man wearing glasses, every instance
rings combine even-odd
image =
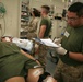
[[[69,7],[68,11],[76,13],[78,16],[82,16],[83,15],[83,3],[75,2]]]

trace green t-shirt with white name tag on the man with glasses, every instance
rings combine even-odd
[[[68,51],[83,54],[83,26],[76,28],[68,26],[61,44]],[[68,55],[61,57],[61,60],[71,66],[83,65],[83,62],[71,59]]]

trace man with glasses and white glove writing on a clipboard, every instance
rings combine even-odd
[[[83,3],[71,4],[67,19],[68,26],[61,46],[56,48],[60,60],[54,78],[58,82],[81,82],[83,79]]]

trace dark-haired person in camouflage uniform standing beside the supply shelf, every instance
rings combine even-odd
[[[34,38],[37,37],[37,26],[38,26],[38,21],[40,17],[40,12],[33,8],[32,10],[32,20],[28,22],[28,27],[27,27],[27,38]]]

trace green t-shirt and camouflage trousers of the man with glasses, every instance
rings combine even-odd
[[[61,46],[69,52],[74,52],[75,56],[79,54],[83,55],[83,25],[78,26],[78,28],[68,26],[66,33],[62,37]],[[63,82],[81,82],[83,61],[71,58],[69,52],[64,56],[59,56],[61,61],[56,68],[55,79],[60,80],[62,78]]]

